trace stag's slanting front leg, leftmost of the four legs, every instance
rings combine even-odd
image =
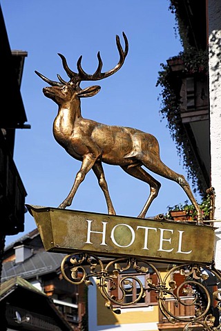
[[[74,185],[73,185],[72,189],[70,190],[68,197],[66,197],[66,199],[64,199],[64,201],[59,205],[58,208],[65,209],[66,207],[71,205],[73,198],[75,197],[75,193],[77,192],[77,189],[79,188],[80,183],[82,183],[82,181],[84,181],[86,174],[93,167],[93,165],[95,164],[95,161],[96,161],[96,158],[93,157],[91,154],[88,154],[88,155],[86,155],[86,157],[84,157],[84,159],[81,163],[81,168],[80,168],[79,172],[77,172]]]

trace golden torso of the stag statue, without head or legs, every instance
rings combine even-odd
[[[69,119],[59,114],[54,122],[53,134],[71,157],[82,161],[84,155],[93,154],[96,161],[111,165],[130,165],[139,160],[143,150],[151,154],[159,151],[157,139],[151,134],[120,126],[107,126],[102,123],[78,117],[68,126]],[[81,137],[84,136],[84,139]],[[121,144],[119,145],[119,141]]]

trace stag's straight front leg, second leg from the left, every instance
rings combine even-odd
[[[104,176],[104,169],[102,167],[102,163],[95,163],[93,165],[93,172],[95,172],[95,175],[97,177],[99,187],[104,192],[104,197],[106,199],[106,204],[108,206],[108,214],[115,215],[115,209],[113,208],[113,203],[111,201],[111,197],[108,191],[108,184],[106,182],[105,176]]]

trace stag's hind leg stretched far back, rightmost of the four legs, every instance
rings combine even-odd
[[[171,181],[175,181],[178,183],[184,192],[186,192],[187,197],[189,197],[191,203],[194,205],[194,208],[197,212],[197,224],[203,224],[202,221],[202,212],[200,210],[200,207],[198,203],[195,201],[195,198],[193,197],[193,193],[191,191],[191,188],[189,186],[189,183],[187,183],[185,177],[182,174],[177,174],[177,172],[171,170],[169,167],[167,167],[160,159],[160,156],[152,155],[151,157],[142,157],[142,162],[148,168],[149,170],[155,172],[155,174],[160,174],[160,176],[171,179]]]

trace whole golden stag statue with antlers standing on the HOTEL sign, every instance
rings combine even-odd
[[[116,36],[119,62],[115,68],[107,72],[102,72],[103,63],[99,52],[97,53],[98,66],[94,74],[87,74],[82,69],[82,56],[77,61],[78,72],[76,73],[70,70],[64,55],[58,54],[61,57],[64,70],[70,78],[68,82],[64,81],[59,74],[57,74],[58,82],[51,81],[35,71],[41,79],[51,86],[43,89],[44,95],[55,101],[59,107],[53,124],[55,140],[71,157],[81,161],[81,168],[77,172],[73,188],[71,188],[68,197],[59,205],[59,208],[64,209],[71,205],[79,184],[84,181],[86,174],[92,169],[104,192],[108,214],[116,214],[104,176],[102,167],[102,162],[104,162],[119,165],[126,173],[148,183],[150,194],[144,208],[138,215],[138,218],[144,219],[161,186],[159,181],[142,168],[144,165],[152,172],[177,182],[183,188],[198,212],[198,224],[202,224],[202,214],[193,197],[189,183],[182,174],[177,174],[161,161],[159,143],[152,134],[134,128],[108,126],[91,119],[84,119],[81,115],[80,98],[93,97],[100,90],[100,86],[81,89],[81,81],[99,81],[115,74],[122,67],[128,54],[128,40],[124,32],[123,37],[125,49],[123,50],[121,46],[119,36]]]

